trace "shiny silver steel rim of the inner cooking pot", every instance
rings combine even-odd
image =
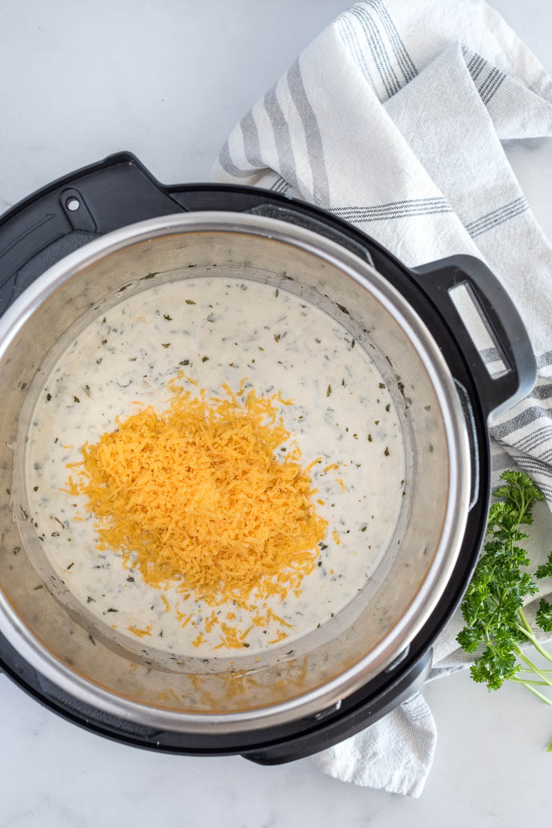
[[[440,543],[426,580],[400,622],[354,667],[325,685],[278,705],[220,715],[191,714],[162,710],[117,696],[80,676],[43,647],[21,623],[0,590],[0,632],[32,667],[71,696],[111,715],[154,728],[221,734],[266,728],[326,710],[377,676],[411,643],[443,595],[457,561],[469,509],[470,466],[468,434],[454,379],[430,331],[412,307],[379,276],[374,267],[355,254],[311,230],[264,216],[225,212],[175,214],[131,224],[88,243],[50,267],[2,316],[0,359],[17,331],[40,304],[83,267],[132,244],[166,235],[201,231],[247,233],[288,243],[338,267],[369,290],[406,331],[431,378],[445,424],[450,457],[449,501]]]

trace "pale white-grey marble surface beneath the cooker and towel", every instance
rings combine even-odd
[[[405,0],[412,2],[412,0]],[[343,0],[0,0],[0,212],[131,150],[161,181],[207,179],[226,133]],[[549,0],[495,7],[552,70]],[[552,142],[507,154],[552,236]],[[418,801],[345,785],[308,760],[155,755],[68,724],[0,676],[0,828],[518,826],[550,821],[550,709],[465,674],[426,687],[439,742]]]

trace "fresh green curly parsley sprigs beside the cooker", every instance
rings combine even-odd
[[[529,641],[552,662],[552,655],[540,645],[523,612],[524,599],[537,591],[535,578],[552,577],[552,552],[533,576],[525,569],[531,561],[519,546],[529,537],[519,527],[533,522],[533,505],[544,500],[544,495],[523,472],[505,471],[501,479],[504,484],[495,489],[494,495],[502,499],[489,511],[488,540],[461,605],[466,626],[456,640],[466,652],[478,650],[471,667],[473,681],[486,684],[489,690],[498,690],[504,681],[516,681],[552,705],[552,700],[538,689],[552,687],[550,671],[540,670],[521,649],[521,643]],[[549,601],[540,599],[535,623],[552,632]],[[552,751],[552,742],[548,750]]]

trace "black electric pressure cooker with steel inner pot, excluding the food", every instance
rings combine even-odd
[[[374,576],[330,623],[260,665],[167,664],[117,638],[72,600],[25,519],[26,426],[52,354],[126,296],[206,275],[280,287],[338,320],[382,373],[407,450],[402,514]],[[464,327],[459,286],[502,356],[499,375]],[[526,331],[488,267],[453,256],[408,268],[312,205],[244,186],[160,185],[120,153],[0,219],[0,313],[0,669],[12,681],[126,744],[264,764],[346,739],[421,685],[483,542],[488,418],[535,382]]]

